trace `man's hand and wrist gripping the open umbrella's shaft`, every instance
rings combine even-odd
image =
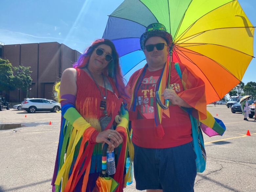
[[[180,96],[178,96],[173,89],[165,89],[161,96],[163,96],[164,99],[169,99],[173,105],[191,108],[191,106],[187,104]]]

